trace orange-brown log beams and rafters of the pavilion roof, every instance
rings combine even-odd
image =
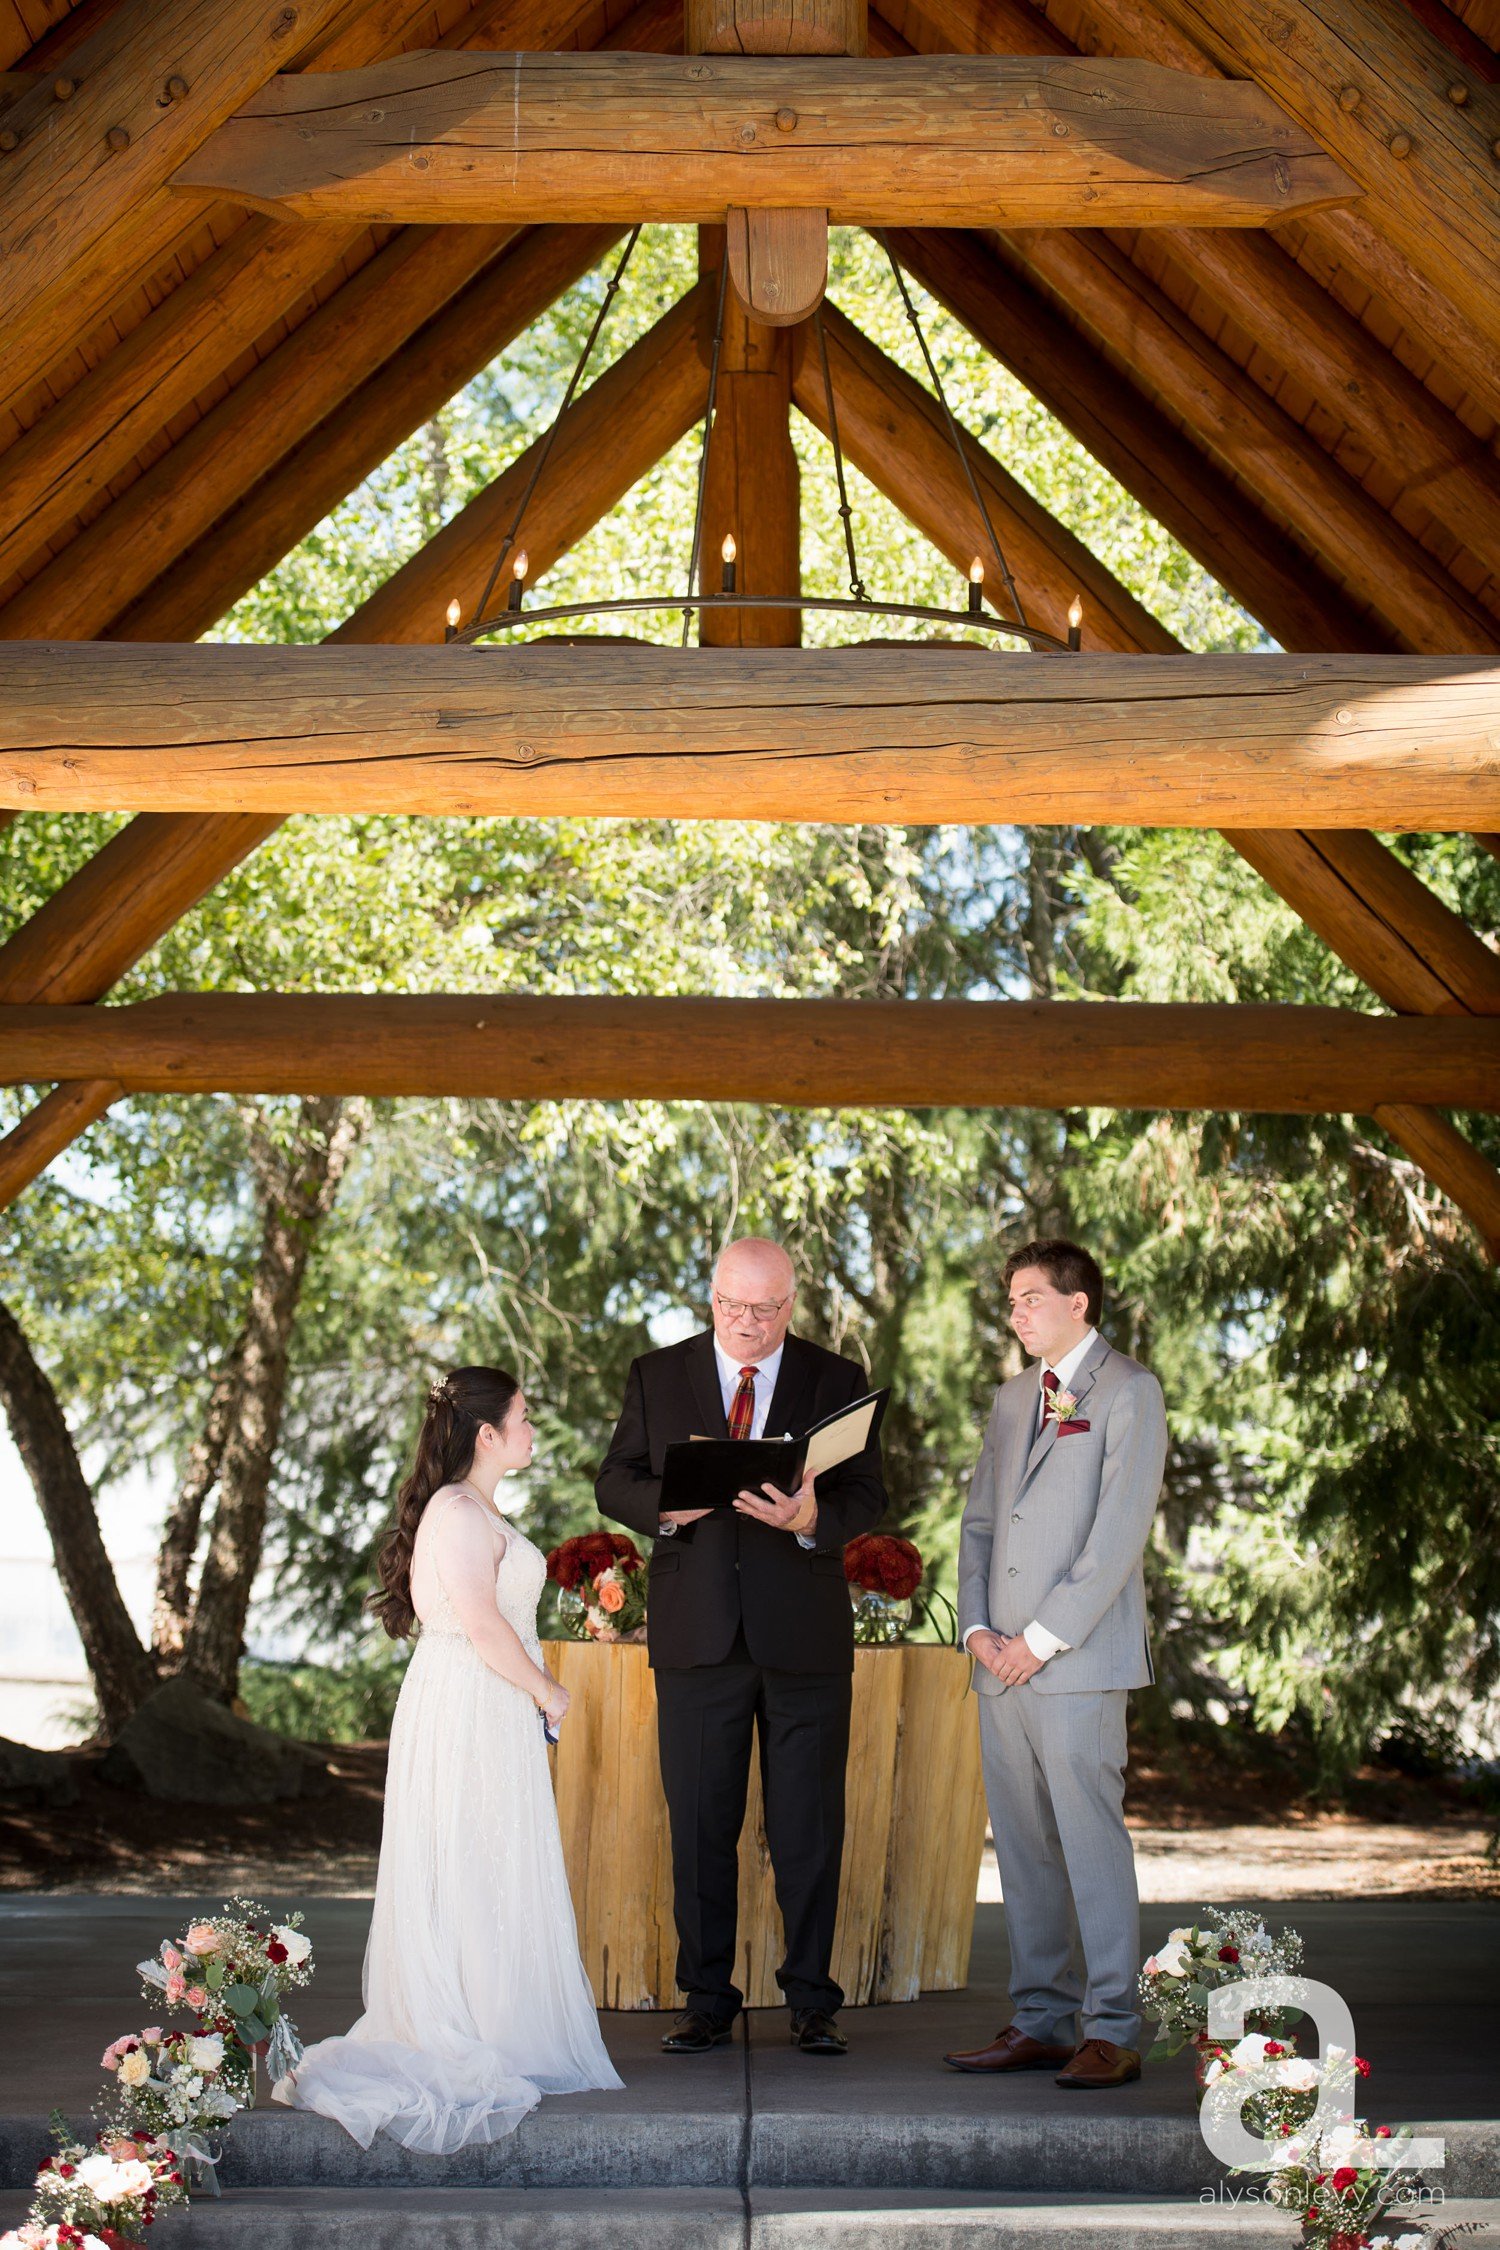
[[[690,0],[686,25],[675,0],[47,14],[27,43],[0,0],[0,641],[20,644],[0,648],[0,821],[137,817],[0,947],[0,1076],[58,1080],[0,1143],[0,1199],[124,1089],[304,1084],[315,1051],[371,1091],[468,1071],[463,1087],[517,1096],[1361,1109],[1500,1249],[1500,1174],[1444,1116],[1496,1107],[1493,1024],[1475,1019],[1500,1015],[1500,956],[1372,835],[1500,830],[1498,230],[1475,184],[1500,108],[1491,52],[1442,0]],[[493,99],[506,68],[528,101],[551,90],[522,104],[524,130]],[[927,88],[909,112],[868,106],[882,70]],[[488,171],[459,180],[436,115],[425,142],[407,117],[400,162],[288,142],[288,119],[349,115],[333,72],[380,72],[405,104],[443,86],[452,108],[459,86],[477,104],[463,130],[488,119]],[[607,182],[558,169],[578,137],[567,88],[598,104],[612,86],[636,108],[654,88],[663,133]],[[956,162],[981,86],[990,137]],[[1075,664],[787,650],[796,610],[711,616],[717,648],[681,657],[416,646],[439,644],[452,596],[472,610],[535,450],[335,648],[162,646],[211,626],[668,194],[675,216],[729,216],[735,286],[776,320],[780,216],[801,241],[807,214],[893,225],[913,274],[1286,657],[1185,657],[974,441],[1028,614],[1059,632],[1084,598]],[[760,232],[735,236],[735,212]],[[702,248],[715,268],[722,230]],[[756,261],[771,297],[747,284]],[[702,416],[715,295],[699,284],[569,412],[528,515],[535,576]],[[823,320],[848,454],[963,567],[983,524],[936,400],[855,320]],[[735,310],[706,531],[711,551],[735,531],[747,592],[798,590],[789,410],[828,418],[803,331]],[[468,736],[432,724],[441,682],[463,682]],[[324,745],[351,700],[367,765],[333,790]],[[852,1004],[484,1004],[488,1026],[531,1010],[504,1078],[461,999],[92,1010],[279,814],[713,817],[726,754],[735,810],[762,817],[1221,826],[1406,1022],[1075,1008],[1046,1017],[1037,1073],[1023,1008],[974,1004],[958,1042],[942,1012],[893,1004],[873,1055]],[[576,1010],[594,1010],[587,1042]]]

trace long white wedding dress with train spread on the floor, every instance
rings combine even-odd
[[[542,1660],[540,1548],[470,1492],[434,1494],[412,1564],[425,1616],[391,1724],[364,2014],[277,2086],[364,2149],[385,2131],[432,2156],[513,2133],[542,2095],[623,2084],[578,1958],[542,1717],[459,1624],[436,1546],[450,1508],[504,1532],[495,1604]],[[475,1555],[472,1523],[461,1530]]]

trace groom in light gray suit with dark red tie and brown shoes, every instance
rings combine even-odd
[[[1097,1332],[1104,1276],[1088,1251],[1028,1242],[1003,1285],[1037,1366],[994,1395],[958,1541],[958,1629],[976,1658],[1014,2014],[987,2048],[945,2061],[1127,2086],[1140,2077],[1140,1915],[1124,1703],[1154,1678],[1142,1555],[1167,1415],[1156,1377]]]

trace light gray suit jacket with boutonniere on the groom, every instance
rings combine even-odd
[[[1151,1672],[1140,1559],[1167,1462],[1156,1377],[1095,1336],[1073,1379],[1086,1431],[1037,1431],[1037,1368],[994,1393],[958,1539],[958,1638],[1034,1618],[1068,1647],[1032,1688],[1145,1688]],[[981,1694],[1005,1694],[974,1665]]]

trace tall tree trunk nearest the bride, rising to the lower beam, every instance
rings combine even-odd
[[[261,1260],[241,1339],[241,1379],[218,1469],[214,1532],[184,1642],[184,1667],[225,1703],[238,1683],[250,1591],[265,1539],[301,1278],[355,1138],[353,1112],[328,1096],[301,1102],[299,1130],[288,1150],[272,1150],[265,1134],[256,1136],[265,1213]]]

